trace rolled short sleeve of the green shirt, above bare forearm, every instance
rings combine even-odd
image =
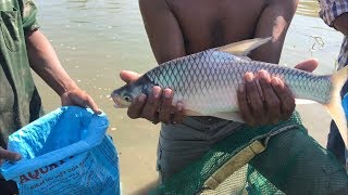
[[[39,28],[36,20],[37,6],[33,2],[33,0],[22,0],[22,3],[23,29],[24,34],[27,35],[28,32]]]

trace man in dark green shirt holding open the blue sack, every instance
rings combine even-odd
[[[61,66],[39,30],[36,13],[32,0],[0,0],[0,160],[21,159],[18,154],[5,151],[8,136],[42,115],[30,67],[60,95],[63,106],[88,106],[100,113]],[[0,176],[0,192],[16,194],[16,185]]]

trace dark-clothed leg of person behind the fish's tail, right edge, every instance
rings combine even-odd
[[[348,93],[348,82],[343,87],[340,96],[343,98],[346,93]],[[341,139],[338,128],[334,121],[331,122],[326,148],[336,156],[340,164],[345,165],[345,142]]]

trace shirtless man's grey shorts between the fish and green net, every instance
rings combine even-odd
[[[203,156],[240,123],[212,117],[187,117],[181,125],[162,126],[158,146],[161,181]]]

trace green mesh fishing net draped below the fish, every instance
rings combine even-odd
[[[150,194],[348,194],[348,177],[295,113],[276,126],[241,127]]]

